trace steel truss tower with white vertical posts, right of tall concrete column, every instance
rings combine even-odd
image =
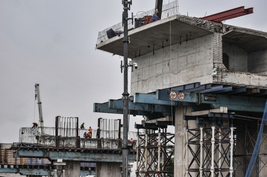
[[[233,127],[186,128],[189,177],[232,177]],[[190,158],[192,157],[192,158]]]

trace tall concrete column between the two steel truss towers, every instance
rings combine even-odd
[[[180,106],[175,108],[175,159],[174,159],[174,176],[175,177],[187,177],[186,173],[186,159],[189,161],[192,156],[187,151],[187,132],[186,132],[186,121],[183,120],[183,114],[191,115],[191,110],[189,107]],[[199,128],[200,126],[196,124],[195,121],[188,121],[189,129]],[[190,135],[189,135],[190,138]],[[188,157],[187,157],[188,155]],[[199,169],[197,164],[196,169]],[[194,175],[194,174],[191,174]]]

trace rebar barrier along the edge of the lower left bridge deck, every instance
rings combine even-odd
[[[42,131],[41,131],[42,130]],[[66,130],[65,132],[71,132]],[[84,131],[79,129],[79,132]],[[42,134],[43,132],[44,134]],[[105,133],[112,134],[113,132]],[[89,148],[89,149],[121,149],[122,139],[113,139],[112,136],[106,138],[83,138],[55,136],[55,128],[36,127],[36,128],[21,128],[20,129],[20,143],[38,144],[49,147],[63,147],[63,148]],[[129,132],[131,138],[136,139],[135,132]],[[134,138],[135,136],[135,138]],[[135,149],[135,144],[133,146]]]

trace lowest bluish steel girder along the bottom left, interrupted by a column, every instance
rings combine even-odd
[[[47,170],[44,169],[22,169],[22,168],[0,168],[1,173],[12,173],[20,175],[33,175],[33,176],[47,176]],[[53,175],[54,172],[50,171]],[[95,175],[95,171],[81,170],[81,177],[86,177],[88,175]],[[0,175],[1,176],[1,175]]]

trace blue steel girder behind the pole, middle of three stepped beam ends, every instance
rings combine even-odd
[[[123,109],[123,100],[110,99],[108,101],[109,109]],[[148,111],[148,112],[172,112],[171,106],[148,103],[134,103],[130,101],[129,109],[134,111]]]

